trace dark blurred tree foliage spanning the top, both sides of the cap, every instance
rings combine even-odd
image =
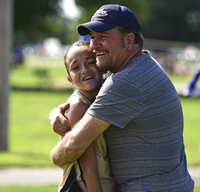
[[[92,15],[104,4],[129,7],[142,24],[145,38],[174,41],[199,40],[200,4],[196,0],[76,0],[81,17],[70,20],[62,17],[59,0],[15,0],[14,42],[38,43],[47,37],[58,37],[62,43],[77,40],[76,26],[90,21]]]

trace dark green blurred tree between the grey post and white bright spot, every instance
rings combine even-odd
[[[67,19],[61,17],[59,0],[15,0],[14,42],[38,43],[47,37],[67,41]]]

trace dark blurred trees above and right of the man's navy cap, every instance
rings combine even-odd
[[[76,0],[82,8],[79,23],[87,22],[104,4],[120,4],[130,8],[142,24],[145,38],[171,41],[200,40],[200,4],[196,0]]]

